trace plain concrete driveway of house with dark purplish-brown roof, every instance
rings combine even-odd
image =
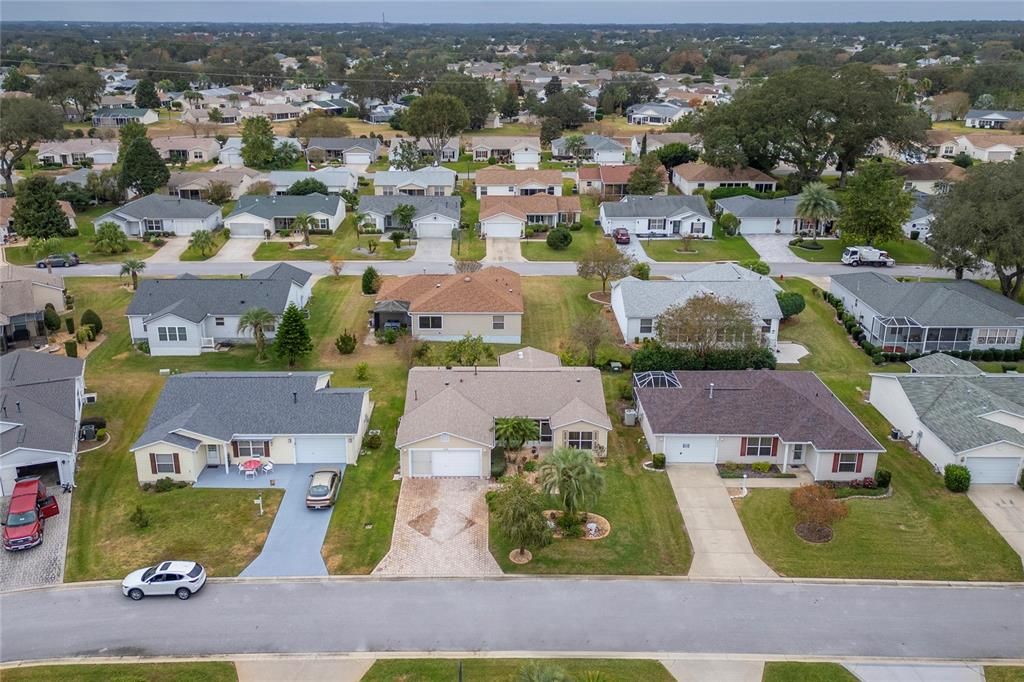
[[[714,464],[670,464],[672,491],[693,545],[690,578],[774,578],[751,547]]]

